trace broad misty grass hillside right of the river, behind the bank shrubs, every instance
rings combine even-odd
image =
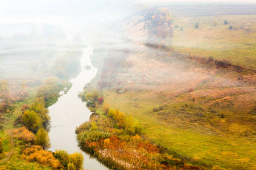
[[[138,121],[146,138],[193,164],[256,169],[255,15],[175,15],[172,24],[171,50],[143,46],[143,24],[126,26],[129,67],[110,75],[115,82],[104,89],[105,102]],[[210,56],[212,62],[200,61]]]

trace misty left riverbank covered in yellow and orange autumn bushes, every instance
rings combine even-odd
[[[9,78],[11,74],[5,74],[6,78],[0,82],[0,169],[82,168],[81,153],[46,151],[50,146],[46,129],[51,120],[47,107],[56,103],[61,90],[67,92],[72,86],[67,78],[78,73],[72,68],[79,68],[80,56],[81,49],[73,48],[57,57],[54,65],[46,66],[55,69],[53,75],[61,79],[48,73],[50,70],[41,70],[40,66],[33,71],[31,78],[26,78],[27,73],[21,78],[19,75]],[[73,60],[69,62],[71,58]],[[30,74],[30,70],[27,71]],[[42,78],[38,78],[39,75]]]

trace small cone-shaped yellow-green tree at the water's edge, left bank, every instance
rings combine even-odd
[[[38,130],[38,133],[36,133],[35,145],[41,145],[44,149],[51,146],[48,133],[42,128]]]

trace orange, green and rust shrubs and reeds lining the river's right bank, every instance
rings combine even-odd
[[[85,90],[80,97],[89,103],[91,110],[101,108],[102,112],[93,113],[88,122],[76,129],[79,146],[112,168],[204,169],[188,165],[184,158],[144,138],[139,124],[132,117],[103,103],[103,97],[97,90]]]

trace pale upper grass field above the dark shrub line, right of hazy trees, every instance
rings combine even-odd
[[[256,69],[256,15],[177,17],[173,25],[175,50]],[[229,25],[233,28],[229,29]]]

